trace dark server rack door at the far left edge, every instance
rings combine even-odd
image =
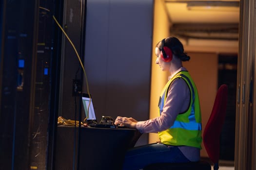
[[[0,169],[29,169],[38,0],[1,1]]]

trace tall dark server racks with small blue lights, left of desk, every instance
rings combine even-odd
[[[1,170],[55,169],[63,49],[53,16],[62,25],[63,1],[0,1]]]

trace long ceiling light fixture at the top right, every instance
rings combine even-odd
[[[239,1],[188,1],[188,10],[239,11]]]

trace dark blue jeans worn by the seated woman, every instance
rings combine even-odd
[[[154,143],[132,148],[127,151],[123,170],[139,170],[152,163],[190,162],[176,146]]]

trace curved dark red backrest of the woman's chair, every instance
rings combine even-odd
[[[219,138],[226,116],[227,94],[228,86],[221,85],[218,88],[213,110],[203,133],[203,143],[213,163],[217,163],[219,159]]]

